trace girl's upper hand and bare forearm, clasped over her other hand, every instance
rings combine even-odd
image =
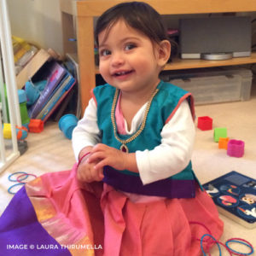
[[[88,163],[96,163],[94,168],[102,170],[103,166],[112,166],[117,170],[125,170],[129,161],[129,154],[120,151],[119,149],[108,147],[105,144],[97,144],[91,150]]]

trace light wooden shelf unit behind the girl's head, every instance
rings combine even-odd
[[[60,0],[65,53],[78,51],[80,69],[81,108],[84,111],[90,100],[90,90],[96,84],[93,20],[114,4],[124,0]],[[255,0],[147,0],[160,15],[188,15],[207,13],[256,12]],[[77,44],[68,41],[77,38]],[[256,54],[250,57],[235,58],[227,61],[204,61],[176,59],[167,64],[165,70],[187,68],[236,66],[256,63]]]

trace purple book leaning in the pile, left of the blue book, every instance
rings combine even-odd
[[[36,119],[38,113],[44,108],[45,104],[49,101],[50,97],[53,95],[55,89],[60,85],[61,79],[67,75],[66,68],[62,67],[57,61],[50,61],[46,63],[38,71],[37,79],[47,80],[47,84],[44,90],[38,97],[37,102],[35,102],[31,108],[28,109],[28,114],[31,119]]]

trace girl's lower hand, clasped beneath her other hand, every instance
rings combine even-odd
[[[78,167],[77,177],[80,182],[91,183],[94,181],[102,181],[103,176],[103,168],[95,168],[97,161],[88,162],[88,156],[84,157]]]

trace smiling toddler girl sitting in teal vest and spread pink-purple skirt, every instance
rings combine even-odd
[[[218,240],[223,223],[192,170],[193,97],[159,79],[171,48],[160,15],[120,3],[97,20],[96,43],[108,84],[73,131],[78,162],[16,193],[0,254],[200,255],[201,237]]]

